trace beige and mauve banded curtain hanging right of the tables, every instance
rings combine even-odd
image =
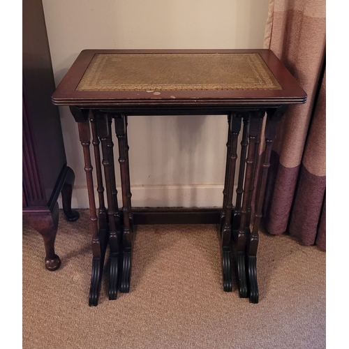
[[[274,142],[265,195],[267,231],[289,232],[326,249],[325,0],[270,0],[265,48],[302,86],[308,101],[291,105]]]

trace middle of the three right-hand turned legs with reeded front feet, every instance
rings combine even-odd
[[[258,139],[260,130],[260,120],[250,116],[250,125],[248,129],[248,153],[246,158],[246,173],[244,180],[244,197],[242,199],[241,217],[239,222],[239,230],[237,232],[237,283],[239,288],[239,296],[247,297],[248,288],[245,269],[245,248],[246,248],[246,222],[248,218],[248,204],[251,202],[251,181],[253,179],[254,160],[255,160],[255,142]],[[242,159],[243,161],[243,159]]]

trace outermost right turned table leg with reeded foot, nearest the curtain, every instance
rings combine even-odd
[[[262,170],[258,178],[255,218],[253,222],[253,230],[246,244],[246,267],[248,274],[248,290],[249,299],[252,303],[258,303],[259,290],[257,283],[257,250],[259,235],[258,230],[260,226],[260,219],[262,218],[262,206],[265,195],[265,186],[267,184],[267,174],[270,167],[270,156],[272,154],[272,145],[276,138],[276,131],[279,120],[285,112],[286,106],[279,108],[271,108],[267,110],[267,123],[265,126],[265,152],[262,161]]]

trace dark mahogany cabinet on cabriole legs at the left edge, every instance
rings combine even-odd
[[[45,267],[61,265],[54,253],[62,195],[64,216],[76,221],[71,209],[75,174],[66,164],[58,108],[52,105],[55,89],[50,49],[41,0],[23,2],[22,82],[22,212],[31,227],[43,235]]]

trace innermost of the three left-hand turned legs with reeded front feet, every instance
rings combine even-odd
[[[126,116],[117,115],[115,118],[115,132],[119,142],[119,164],[121,173],[121,191],[122,191],[122,211],[124,216],[124,231],[122,237],[123,265],[121,276],[121,292],[130,290],[133,231],[131,230],[131,188],[128,169],[128,145],[126,140]]]

